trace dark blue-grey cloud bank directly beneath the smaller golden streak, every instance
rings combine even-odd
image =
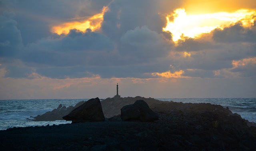
[[[70,30],[69,34],[62,38],[42,39],[37,43],[28,44],[28,47],[32,47],[32,49],[43,48],[53,52],[113,50],[109,38],[98,32],[92,32],[90,29],[87,29],[86,32]]]

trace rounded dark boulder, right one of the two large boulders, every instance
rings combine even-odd
[[[154,121],[158,114],[152,111],[144,100],[137,100],[134,104],[121,109],[122,121]]]

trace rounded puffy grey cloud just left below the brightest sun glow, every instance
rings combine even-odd
[[[122,42],[121,54],[136,56],[140,59],[165,56],[172,47],[163,35],[151,31],[147,26],[128,30],[120,41]]]

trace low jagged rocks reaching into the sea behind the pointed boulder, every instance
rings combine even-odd
[[[32,121],[56,121],[56,120],[63,120],[62,117],[70,113],[76,107],[82,105],[84,101],[80,101],[74,107],[71,105],[69,107],[62,106],[60,104],[57,109],[53,109],[52,111],[48,111],[42,115],[37,115],[31,119]]]

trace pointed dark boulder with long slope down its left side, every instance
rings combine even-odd
[[[100,99],[98,97],[95,99],[89,99],[62,118],[66,121],[72,121],[72,123],[105,120]]]

